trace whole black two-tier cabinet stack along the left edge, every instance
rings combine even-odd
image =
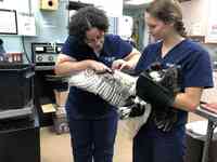
[[[0,100],[1,162],[40,162],[39,121],[33,102],[34,75],[28,65],[1,65],[0,92],[5,97]]]

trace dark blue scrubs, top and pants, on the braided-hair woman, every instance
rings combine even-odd
[[[139,73],[148,69],[154,62],[159,62],[164,68],[176,64],[181,66],[182,91],[184,87],[213,86],[209,55],[202,46],[187,39],[163,58],[161,49],[162,42],[148,45],[136,71]],[[133,139],[133,162],[183,162],[187,117],[187,111],[178,110],[178,121],[170,132],[157,130],[150,118]]]

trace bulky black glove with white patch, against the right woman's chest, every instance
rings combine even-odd
[[[154,73],[155,72],[155,73]],[[153,73],[156,77],[153,77]],[[143,71],[137,81],[137,95],[154,107],[171,107],[180,91],[180,69],[173,66],[162,69],[159,65]]]

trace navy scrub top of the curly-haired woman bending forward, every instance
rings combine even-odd
[[[94,59],[111,67],[115,59],[124,58],[132,51],[132,46],[115,35],[105,35],[104,45],[100,56],[91,48],[80,43],[74,36],[69,36],[62,48],[62,53],[79,60]],[[104,118],[116,114],[115,108],[98,95],[82,91],[75,86],[69,90],[66,109],[73,118]]]

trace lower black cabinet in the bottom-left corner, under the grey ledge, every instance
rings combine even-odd
[[[0,120],[0,161],[40,162],[37,113],[31,118]]]

